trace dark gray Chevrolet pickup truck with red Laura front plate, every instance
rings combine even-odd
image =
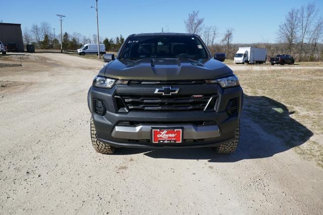
[[[120,147],[212,147],[235,152],[243,91],[195,34],[130,35],[88,91],[91,139],[102,154]]]

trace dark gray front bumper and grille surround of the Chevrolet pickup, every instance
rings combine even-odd
[[[241,87],[222,89],[219,85],[173,86],[181,88],[180,94],[198,95],[216,93],[218,102],[214,111],[129,111],[117,112],[115,95],[131,93],[144,95],[153,92],[160,86],[127,86],[115,85],[112,89],[91,87],[88,92],[88,106],[91,111],[98,140],[114,147],[139,148],[178,148],[178,147],[213,147],[234,138],[240,111],[243,105]],[[192,93],[193,90],[193,93]],[[100,99],[106,108],[103,116],[93,112],[93,99]],[[239,98],[239,111],[230,115],[227,105],[231,99]],[[139,121],[137,125],[119,125],[120,121]],[[211,125],[197,125],[195,121],[214,121]],[[150,141],[151,128],[182,127],[183,139],[181,144],[152,144]]]

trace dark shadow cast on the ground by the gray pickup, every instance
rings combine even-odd
[[[267,158],[304,144],[313,133],[290,117],[293,111],[264,96],[245,95],[241,116],[241,135],[236,153],[216,154],[210,148],[191,149],[119,149],[118,154],[144,153],[151,158],[236,162]]]

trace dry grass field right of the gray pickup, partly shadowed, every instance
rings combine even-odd
[[[237,71],[244,114],[323,168],[323,71]],[[305,142],[305,144],[303,144]]]

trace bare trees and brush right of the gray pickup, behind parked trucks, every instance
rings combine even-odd
[[[233,44],[234,29],[228,28],[220,34],[217,26],[205,26],[204,17],[199,17],[198,11],[188,14],[184,20],[188,33],[199,35],[211,53],[226,52],[232,59],[239,46],[256,46],[267,48],[267,57],[276,54],[293,55],[297,61],[323,60],[323,18],[314,3],[291,9],[285,20],[278,26],[277,43]],[[215,40],[220,39],[216,43]]]

